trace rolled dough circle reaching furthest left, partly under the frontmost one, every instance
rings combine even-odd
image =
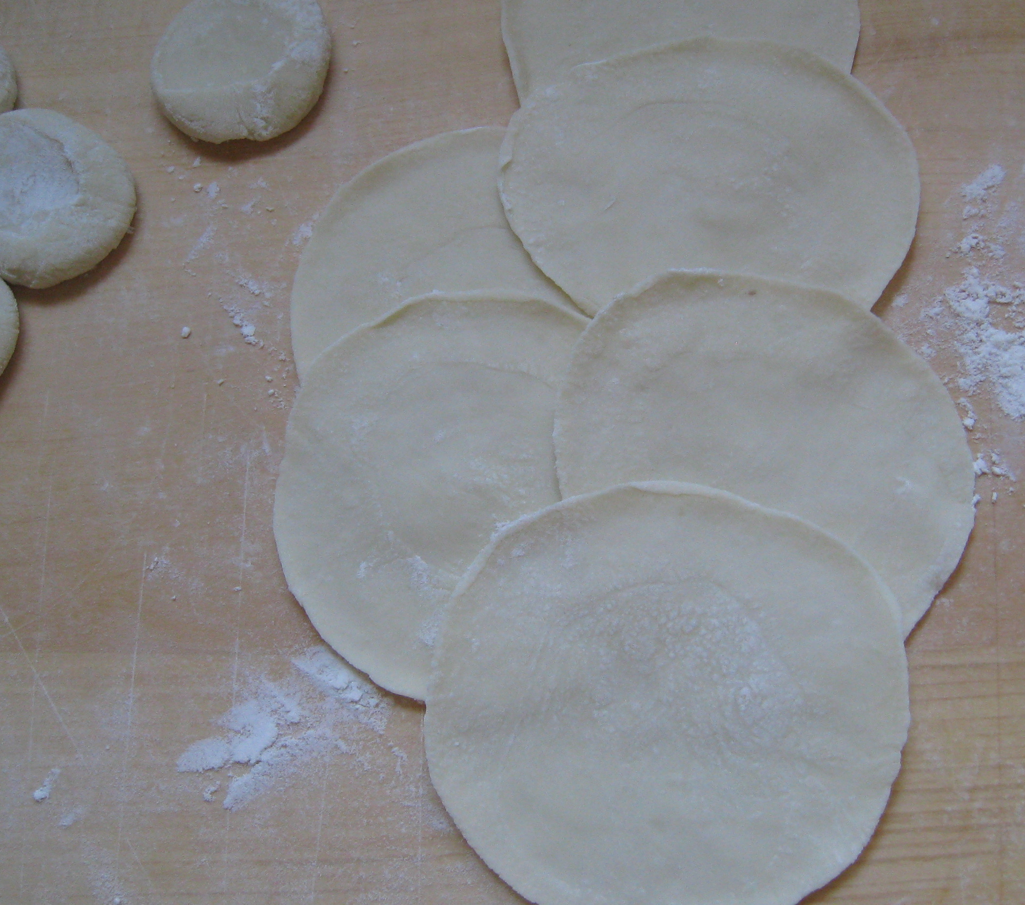
[[[324,639],[422,699],[442,604],[495,525],[559,499],[551,420],[581,314],[428,296],[310,366],[274,530]]]

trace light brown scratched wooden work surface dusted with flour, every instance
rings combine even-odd
[[[153,48],[181,5],[0,0],[18,106],[95,129],[139,195],[133,234],[94,271],[14,289],[22,336],[0,378],[0,901],[522,901],[447,821],[422,709],[385,695],[360,721],[297,670],[319,642],[271,527],[296,389],[288,297],[310,226],[383,154],[508,120],[498,0],[322,0],[334,40],[322,100],[284,136],[228,147],[177,132],[151,96]],[[855,74],[908,129],[922,180],[917,239],[875,310],[930,347],[956,399],[958,333],[927,312],[971,266],[1025,282],[1025,4],[861,8]],[[960,188],[992,164],[1007,176],[966,221]],[[952,251],[972,229],[1004,255]],[[809,902],[1025,902],[1025,442],[991,390],[970,399],[972,446],[1010,474],[980,477],[961,566],[909,640],[913,724],[879,829]],[[294,725],[278,712],[281,738],[319,727],[332,744],[293,746],[225,809],[249,768],[179,773],[177,759],[275,690],[305,708]]]

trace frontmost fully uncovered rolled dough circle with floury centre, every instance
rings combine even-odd
[[[430,779],[541,905],[793,905],[861,852],[900,768],[890,592],[807,522],[675,483],[499,535],[443,622]]]

